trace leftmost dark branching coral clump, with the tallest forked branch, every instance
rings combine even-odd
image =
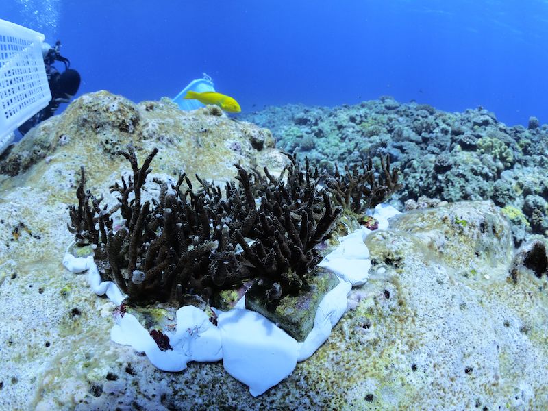
[[[192,273],[198,271],[197,266],[207,267],[208,255],[216,247],[210,240],[209,225],[202,223],[207,216],[200,210],[201,202],[190,204],[177,199],[187,195],[179,190],[184,175],[173,187],[157,181],[160,184],[158,201],[142,203],[141,191],[156,153],[158,150],[154,149],[140,168],[131,146],[128,151],[117,153],[132,165],[133,178],[129,177],[126,182],[122,177],[121,184],[110,187],[111,192],[119,192],[120,197],[118,205],[109,212],[106,208],[99,210],[99,201],[95,201],[97,206],[90,210],[88,199],[93,203],[95,197],[89,192],[82,195],[84,178],[77,190],[79,206],[71,208],[71,232],[77,240],[81,237],[98,246],[96,256],[104,256],[108,263],[105,276],[114,279],[122,292],[137,303],[179,301],[190,289],[199,295],[207,293],[207,284]],[[114,232],[112,214],[118,209],[123,227]],[[101,236],[95,223],[100,227]]]

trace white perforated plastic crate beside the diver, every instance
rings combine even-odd
[[[43,34],[0,20],[0,154],[12,132],[51,100],[42,42]]]

